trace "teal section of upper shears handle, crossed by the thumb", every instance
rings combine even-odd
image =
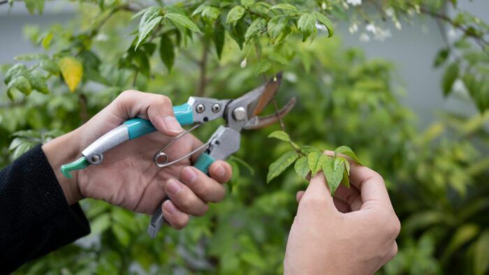
[[[175,113],[175,117],[180,125],[184,126],[194,123],[194,113],[192,112],[191,105],[185,103],[175,106],[173,107],[173,112]],[[129,140],[133,140],[156,131],[156,128],[154,128],[153,124],[151,124],[149,120],[140,119],[138,117],[124,121],[124,124],[127,126],[127,131],[129,131]]]

